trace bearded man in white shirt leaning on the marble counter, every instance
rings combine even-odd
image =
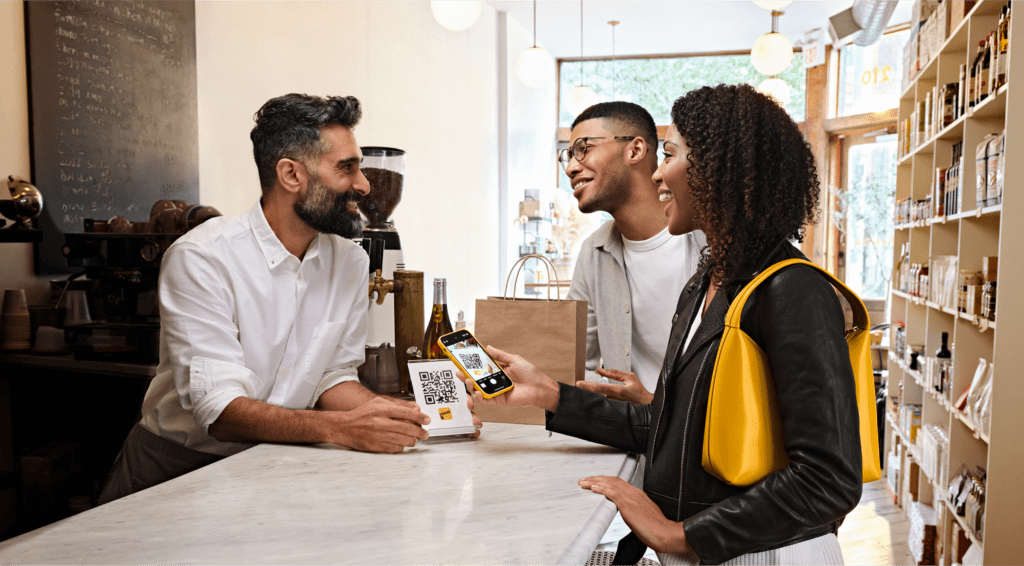
[[[400,452],[415,403],[364,388],[370,191],[351,96],[287,94],[250,133],[262,199],[178,238],[160,273],[160,365],[100,494],[106,503],[258,442]]]

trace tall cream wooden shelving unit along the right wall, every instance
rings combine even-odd
[[[939,52],[922,69],[900,97],[902,122],[936,85],[958,81],[961,64],[970,64],[974,46],[995,29],[1005,0],[981,0],[955,30],[950,31]],[[1015,35],[1015,28],[1017,29]],[[950,337],[953,376],[948,397],[926,387],[922,376],[902,359],[890,354],[889,392],[898,404],[922,405],[922,424],[943,428],[949,437],[948,460],[951,479],[962,466],[981,466],[987,471],[983,540],[967,528],[946,502],[947,485],[938,485],[924,467],[916,468],[916,499],[931,504],[938,518],[941,549],[937,557],[951,564],[953,523],[969,533],[972,543],[982,549],[985,564],[1014,564],[1021,560],[1021,517],[1024,516],[1024,485],[1019,469],[1024,463],[1024,380],[1016,356],[1024,352],[1024,11],[1015,6],[1011,19],[1008,84],[908,151],[897,162],[896,199],[923,200],[931,190],[937,168],[948,167],[952,146],[964,143],[964,189],[958,214],[918,220],[896,226],[893,249],[909,247],[910,262],[928,265],[937,256],[955,255],[962,269],[980,269],[981,258],[998,256],[998,294],[995,322],[968,316],[954,309],[892,291],[890,319],[906,324],[907,344],[924,344],[928,355],[941,343],[942,333]],[[992,132],[1007,130],[1006,173],[1002,203],[994,207],[975,205],[974,148]],[[894,269],[898,258],[894,257]],[[894,271],[895,272],[895,271]],[[895,285],[894,277],[894,285]],[[985,435],[969,418],[951,406],[970,386],[978,359],[994,363],[992,376],[991,427]],[[887,409],[888,409],[887,404]],[[910,443],[893,413],[887,413],[886,447],[892,453],[901,444],[900,473],[910,473],[909,462],[920,459],[920,447]],[[920,464],[920,461],[918,462]],[[900,505],[905,502],[900,500]]]

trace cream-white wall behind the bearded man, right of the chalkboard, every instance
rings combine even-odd
[[[497,287],[496,20],[486,4],[456,33],[428,2],[197,2],[204,204],[234,214],[258,199],[249,130],[265,100],[354,95],[359,144],[407,151],[394,214],[407,267],[424,271],[428,301],[432,278],[447,277],[452,316],[472,318]]]

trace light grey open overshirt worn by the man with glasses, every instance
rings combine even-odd
[[[703,232],[692,231],[679,237],[692,238],[692,249],[702,250]],[[696,272],[699,253],[679,258],[679,269],[689,278]],[[601,225],[580,247],[568,299],[587,301],[587,369],[632,372],[633,315],[630,287],[626,279],[623,237],[614,220]],[[666,317],[675,312],[679,297],[666,297]],[[601,360],[604,363],[601,364]]]

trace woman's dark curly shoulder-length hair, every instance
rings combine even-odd
[[[803,242],[817,168],[784,110],[750,85],[719,85],[677,99],[672,122],[689,145],[690,202],[708,236],[700,267],[713,280],[726,285],[783,237]]]

